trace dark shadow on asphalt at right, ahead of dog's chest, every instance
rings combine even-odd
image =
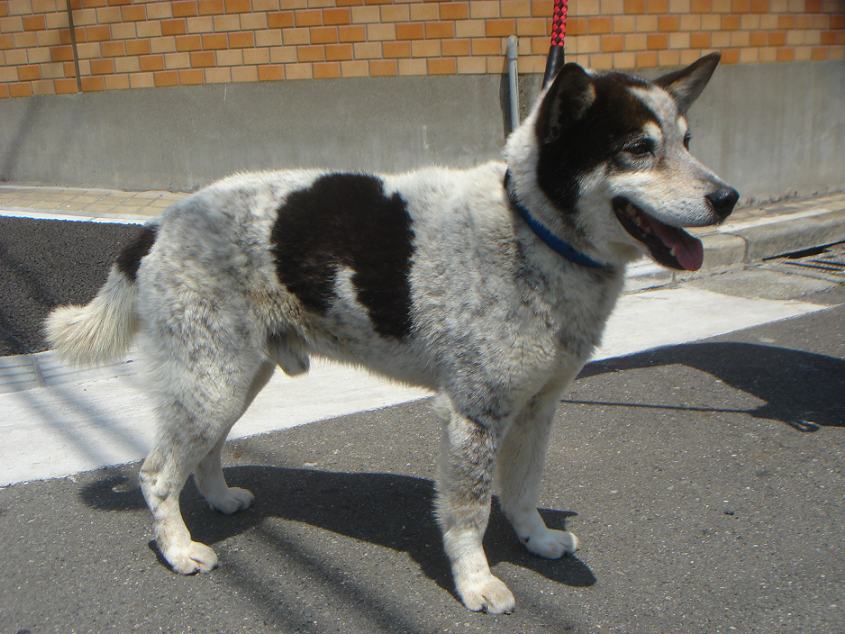
[[[637,368],[683,365],[707,372],[765,401],[756,409],[727,410],[637,402],[569,401],[620,407],[742,412],[777,420],[802,432],[845,426],[845,361],[835,357],[740,342],[687,343],[656,348],[586,366],[580,378]]]

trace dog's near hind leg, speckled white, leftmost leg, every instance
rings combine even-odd
[[[203,486],[216,487],[214,493],[224,500],[231,500],[231,489],[226,487],[225,493],[222,489],[226,486],[222,470],[216,471],[216,448],[254,396],[254,377],[266,372],[258,355],[233,352],[234,346],[221,350],[189,343],[183,343],[181,351],[190,359],[173,355],[161,364],[159,432],[140,474],[141,490],[153,514],[156,544],[173,570],[182,574],[211,570],[217,565],[217,555],[191,539],[179,508],[179,493],[191,472],[212,452],[199,479]]]

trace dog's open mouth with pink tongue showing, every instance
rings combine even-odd
[[[652,218],[621,196],[613,199],[613,211],[628,233],[646,245],[660,264],[687,271],[701,268],[704,249],[698,238]]]

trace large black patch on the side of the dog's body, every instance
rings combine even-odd
[[[348,267],[375,331],[399,339],[411,328],[413,239],[399,194],[386,196],[374,176],[342,173],[290,194],[271,235],[279,280],[305,308],[326,314],[337,270]]]

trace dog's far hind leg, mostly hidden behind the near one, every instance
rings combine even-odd
[[[275,365],[269,362],[264,363],[259,368],[250,385],[244,411],[246,411],[253,399],[258,396],[261,388],[267,385],[270,377],[273,376],[274,370]],[[251,491],[239,487],[230,487],[226,484],[220,454],[223,451],[223,445],[226,442],[229,429],[226,429],[220,435],[214,447],[206,454],[205,458],[200,460],[194,471],[194,482],[206,502],[215,511],[219,511],[225,515],[231,515],[232,513],[248,509],[255,499]]]

